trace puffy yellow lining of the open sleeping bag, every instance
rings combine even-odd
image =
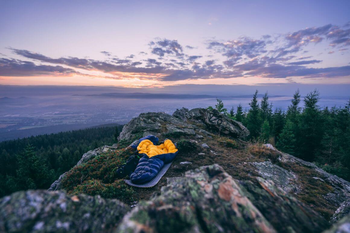
[[[139,154],[146,154],[149,158],[155,155],[167,154],[167,153],[175,153],[177,151],[174,143],[167,139],[163,144],[156,146],[148,139],[145,139],[139,143],[137,147]]]

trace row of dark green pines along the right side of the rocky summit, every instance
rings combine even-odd
[[[258,101],[253,95],[250,108],[241,105],[230,112],[217,99],[215,108],[240,121],[250,131],[251,140],[271,143],[279,150],[313,162],[325,171],[350,180],[350,101],[343,107],[321,107],[320,93],[314,90],[301,98],[299,90],[287,111],[273,110],[267,92]],[[208,107],[212,108],[212,107]]]

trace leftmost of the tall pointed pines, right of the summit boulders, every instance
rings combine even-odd
[[[250,102],[250,109],[247,114],[246,126],[250,131],[250,137],[257,138],[261,129],[261,116],[258,103],[258,90],[255,91],[253,99]]]

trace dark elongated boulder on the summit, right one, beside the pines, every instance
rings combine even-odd
[[[217,110],[194,108],[185,114],[187,120],[207,126],[210,130],[233,137],[247,137],[249,130],[241,122],[232,120]]]

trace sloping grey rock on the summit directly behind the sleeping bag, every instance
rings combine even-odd
[[[187,122],[177,119],[169,114],[163,112],[148,112],[141,113],[138,117],[133,118],[129,123],[127,123],[123,127],[118,140],[132,140],[134,135],[139,135],[140,133],[141,136],[151,134],[159,137],[162,133],[196,135],[196,132],[210,134],[197,126],[190,125]]]

